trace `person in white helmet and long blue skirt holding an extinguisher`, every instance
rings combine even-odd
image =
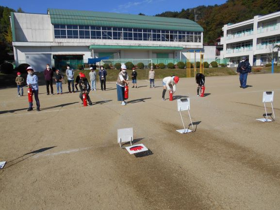
[[[121,105],[127,104],[124,100],[124,87],[126,84],[128,84],[128,73],[126,72],[126,65],[122,64],[116,80],[117,100],[121,101]]]

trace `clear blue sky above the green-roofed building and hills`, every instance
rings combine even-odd
[[[226,0],[0,0],[0,6],[25,13],[47,14],[47,9],[89,10],[154,16],[166,11],[194,8],[200,5],[223,4]]]

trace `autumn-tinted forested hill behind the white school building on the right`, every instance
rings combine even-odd
[[[203,27],[203,41],[213,44],[222,35],[222,27],[227,23],[237,23],[252,19],[257,15],[267,15],[280,11],[280,0],[228,0],[214,6],[198,6],[182,9],[181,12],[164,12],[156,16],[177,17],[195,20]]]

